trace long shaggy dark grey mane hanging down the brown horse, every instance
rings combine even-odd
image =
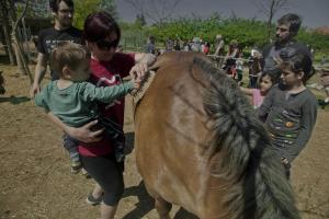
[[[213,176],[231,182],[224,198],[230,218],[299,218],[292,186],[249,100],[223,71],[198,58],[194,65],[209,78],[203,100],[214,136],[207,152],[218,158]]]

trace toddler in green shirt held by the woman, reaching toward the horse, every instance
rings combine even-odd
[[[90,77],[88,51],[83,46],[70,42],[58,43],[50,55],[50,65],[59,79],[49,82],[35,96],[35,104],[71,127],[81,127],[98,119],[99,127],[95,128],[105,128],[106,137],[116,141],[121,134],[113,122],[100,116],[98,102],[111,103],[126,95],[139,88],[140,80],[131,76],[132,82],[100,88],[87,82]],[[122,159],[123,149],[114,147],[114,152],[116,158]],[[69,154],[71,163],[80,162],[78,146]]]

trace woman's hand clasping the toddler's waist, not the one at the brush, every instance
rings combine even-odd
[[[83,142],[95,142],[102,139],[104,128],[92,131],[91,127],[97,125],[98,120],[90,122],[80,128],[67,127],[66,132],[72,138]]]

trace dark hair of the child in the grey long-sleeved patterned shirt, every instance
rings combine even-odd
[[[293,72],[304,72],[303,82],[306,82],[315,73],[311,57],[303,49],[286,47],[281,50],[280,58],[282,60],[282,65],[290,66]]]

